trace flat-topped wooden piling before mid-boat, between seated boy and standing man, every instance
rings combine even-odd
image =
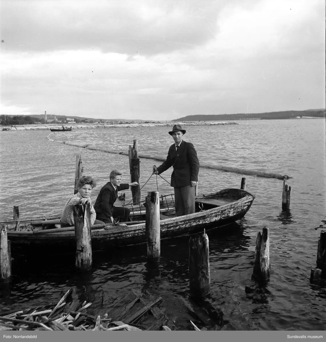
[[[160,194],[149,191],[146,196],[147,260],[158,261],[161,256]]]

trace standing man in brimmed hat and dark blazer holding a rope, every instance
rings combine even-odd
[[[177,216],[195,212],[195,185],[198,181],[199,160],[195,147],[183,140],[186,134],[179,124],[173,126],[174,144],[170,146],[166,161],[153,174],[161,174],[173,166],[171,186],[174,187],[175,211]]]

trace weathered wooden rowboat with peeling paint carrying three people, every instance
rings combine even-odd
[[[162,196],[161,239],[203,232],[203,228],[219,229],[241,219],[249,210],[255,196],[241,189],[224,189],[220,192],[196,197],[196,212],[175,216],[173,195]],[[145,213],[142,203],[128,205],[134,222],[114,225],[94,225],[91,231],[92,249],[146,243]],[[136,220],[136,221],[135,221]],[[8,239],[14,245],[57,245],[76,248],[74,227],[60,228],[60,215],[0,222],[8,225]]]

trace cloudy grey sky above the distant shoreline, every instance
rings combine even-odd
[[[322,0],[1,0],[1,114],[325,108]]]

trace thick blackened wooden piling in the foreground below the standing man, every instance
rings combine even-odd
[[[209,241],[205,234],[189,239],[189,288],[193,297],[205,297],[211,293]]]

